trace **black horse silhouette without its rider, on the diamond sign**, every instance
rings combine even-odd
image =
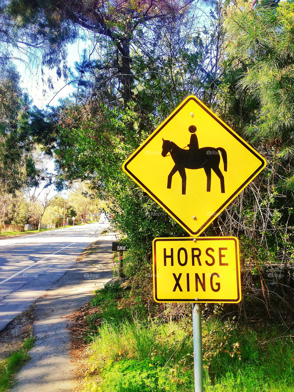
[[[204,169],[207,177],[206,191],[210,192],[211,186],[211,169],[220,179],[220,190],[225,193],[225,180],[220,171],[220,155],[224,161],[224,171],[227,171],[227,152],[222,147],[202,147],[198,149],[195,154],[191,154],[189,150],[184,150],[177,146],[171,140],[164,140],[162,138],[162,152],[161,155],[166,157],[170,152],[171,158],[175,166],[171,169],[168,175],[168,189],[171,189],[171,180],[173,175],[178,171],[182,178],[182,194],[186,194],[186,170],[185,169]]]

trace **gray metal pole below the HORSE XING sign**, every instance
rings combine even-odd
[[[201,310],[198,303],[193,304],[193,345],[195,392],[203,392],[202,328]]]

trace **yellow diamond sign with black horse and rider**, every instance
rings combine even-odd
[[[124,162],[123,170],[198,236],[265,165],[216,114],[188,96]]]

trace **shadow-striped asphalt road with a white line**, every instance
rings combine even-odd
[[[0,330],[43,295],[107,227],[90,223],[0,240]]]

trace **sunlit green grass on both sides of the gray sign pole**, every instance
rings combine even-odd
[[[131,312],[129,296],[103,289],[92,300],[99,312],[88,323],[98,332],[86,336],[92,355],[84,391],[193,391],[191,320],[161,323],[140,301]],[[203,326],[204,390],[294,392],[294,341],[290,330],[284,335],[279,326],[236,328],[209,319]]]

